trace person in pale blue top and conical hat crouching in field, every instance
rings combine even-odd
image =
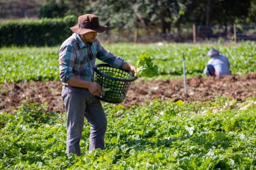
[[[220,52],[214,48],[210,49],[206,55],[211,58],[203,70],[203,74],[207,76],[230,75],[230,62],[226,56],[220,55]]]

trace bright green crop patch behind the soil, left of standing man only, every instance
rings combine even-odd
[[[59,80],[58,48],[1,48],[0,82]]]

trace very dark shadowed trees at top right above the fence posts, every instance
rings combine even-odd
[[[181,20],[203,26],[233,24],[236,20],[242,22],[249,16],[251,1],[255,0],[184,0],[187,10]]]

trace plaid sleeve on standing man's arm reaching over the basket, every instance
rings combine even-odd
[[[108,50],[106,50],[98,40],[96,40],[96,48],[97,48],[97,55],[96,57],[99,60],[102,60],[103,62],[108,63],[109,65],[116,67],[118,69],[123,68],[123,64],[125,63],[125,60],[121,58],[120,56],[115,56]]]

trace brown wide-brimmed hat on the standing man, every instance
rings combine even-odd
[[[86,34],[87,32],[104,32],[106,26],[100,26],[98,17],[94,14],[85,14],[78,17],[78,24],[70,30],[76,34]]]

